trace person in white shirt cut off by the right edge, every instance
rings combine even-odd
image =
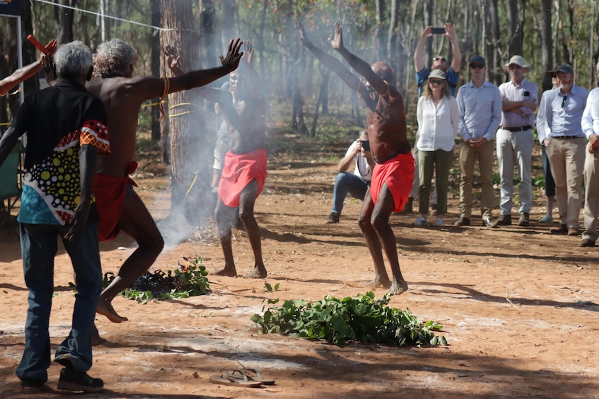
[[[595,65],[599,77],[599,62]],[[595,246],[599,237],[597,233],[597,216],[599,214],[599,87],[589,93],[586,108],[582,112],[582,131],[589,143],[586,144],[584,158],[584,232],[578,246]]]

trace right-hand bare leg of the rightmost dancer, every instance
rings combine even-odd
[[[389,217],[391,216],[391,212],[393,212],[393,207],[395,207],[393,196],[391,196],[391,192],[385,183],[381,188],[377,205],[375,205],[375,209],[372,211],[370,220],[377,232],[383,246],[383,251],[391,266],[391,272],[393,273],[393,281],[391,282],[389,293],[399,295],[408,290],[408,283],[404,280],[402,271],[400,270],[400,260],[397,257],[397,241],[395,240],[395,235],[393,235],[393,229],[389,225]]]

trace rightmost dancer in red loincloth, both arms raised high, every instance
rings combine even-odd
[[[371,67],[345,49],[341,26],[336,22],[331,46],[363,76],[358,78],[339,60],[315,46],[306,37],[299,21],[295,22],[295,26],[300,30],[302,44],[352,90],[356,90],[368,107],[368,139],[377,165],[372,171],[370,190],[364,198],[359,226],[375,263],[375,280],[369,285],[388,288],[391,294],[402,294],[407,291],[408,285],[400,270],[389,217],[392,212],[402,210],[407,202],[414,179],[414,160],[407,140],[402,95],[393,86],[393,69],[383,61],[375,62]],[[364,78],[366,82],[363,82]],[[391,264],[393,281],[389,280],[385,270],[383,251]]]

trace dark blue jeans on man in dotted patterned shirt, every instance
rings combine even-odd
[[[76,371],[92,366],[92,326],[102,289],[102,269],[98,248],[98,225],[90,223],[74,241],[63,237],[70,226],[21,223],[21,253],[25,284],[29,289],[25,322],[25,350],[17,367],[17,377],[38,382],[48,380],[50,334],[48,332],[54,293],[54,257],[58,240],[63,245],[75,272],[77,293],[72,329],[56,349],[56,356],[67,355]]]

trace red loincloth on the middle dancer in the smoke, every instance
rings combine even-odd
[[[224,155],[222,177],[218,183],[218,196],[224,205],[238,207],[242,190],[249,182],[256,179],[258,195],[266,181],[266,150],[261,148],[247,154],[233,154],[229,151]]]

